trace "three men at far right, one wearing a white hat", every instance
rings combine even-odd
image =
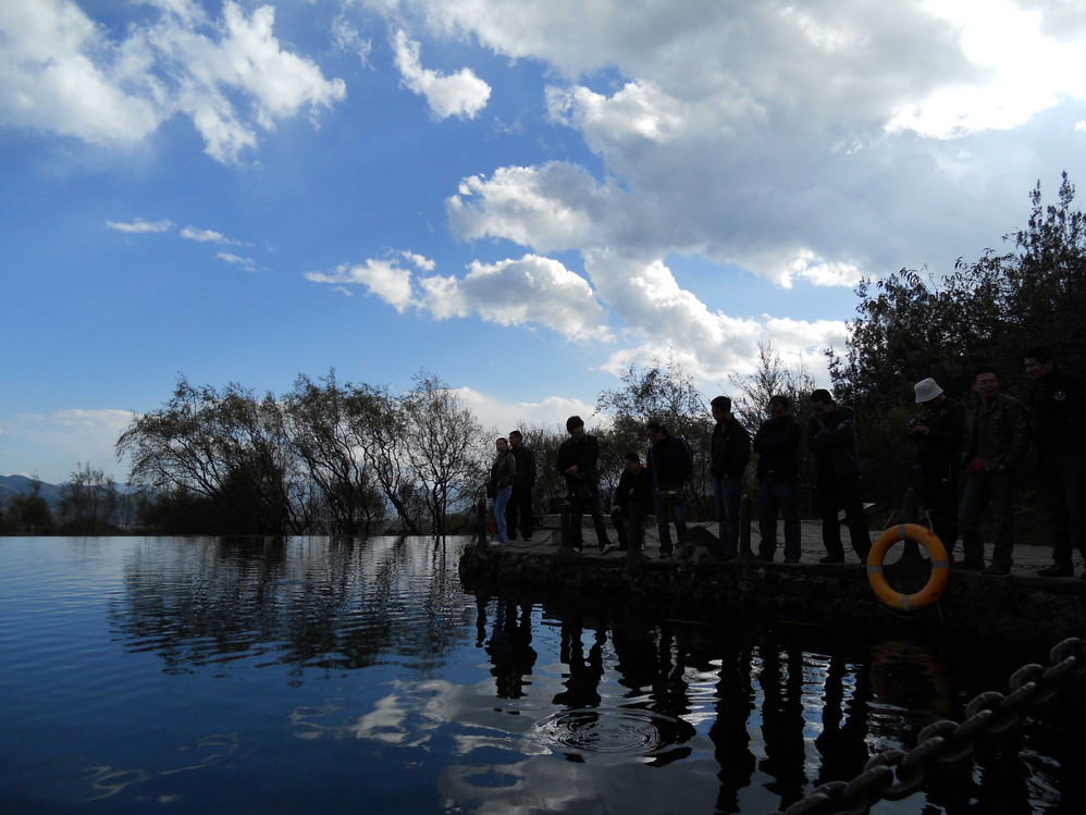
[[[948,552],[961,534],[955,568],[1007,575],[1014,563],[1015,496],[1032,444],[1052,540],[1052,565],[1037,573],[1071,577],[1074,549],[1086,558],[1086,379],[1059,369],[1046,346],[1026,350],[1025,372],[1032,381],[1028,408],[1000,393],[991,367],[977,369],[968,408],[933,379],[916,383],[916,402],[926,412],[909,431],[916,442],[921,491],[931,531]],[[986,511],[996,533],[987,566]],[[1081,577],[1086,580],[1086,571]]]

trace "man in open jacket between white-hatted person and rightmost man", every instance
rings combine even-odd
[[[1008,575],[1013,565],[1014,493],[1019,467],[1026,453],[1028,427],[1025,406],[999,392],[991,367],[977,369],[976,397],[968,415],[965,449],[965,487],[958,510],[963,559],[960,569],[984,569],[984,533],[980,521],[991,507],[996,543],[985,575]]]

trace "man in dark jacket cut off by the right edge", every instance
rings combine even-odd
[[[1086,558],[1086,379],[1058,369],[1044,346],[1026,351],[1026,375],[1033,380],[1033,439],[1052,536],[1052,565],[1037,573],[1071,577],[1076,546]],[[1086,580],[1086,571],[1081,577]]]

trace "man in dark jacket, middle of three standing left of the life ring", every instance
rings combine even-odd
[[[803,431],[792,416],[787,396],[769,399],[769,418],[754,434],[758,454],[758,557],[773,560],[777,552],[777,516],[785,520],[785,563],[800,561],[800,440]]]

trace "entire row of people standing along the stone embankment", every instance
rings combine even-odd
[[[1019,399],[1000,393],[998,375],[990,367],[976,371],[974,399],[968,408],[950,398],[934,379],[917,382],[915,400],[925,412],[908,425],[916,445],[914,469],[933,531],[948,553],[953,553],[961,533],[962,556],[953,565],[983,569],[986,575],[1007,575],[1013,563],[1015,491],[1032,441],[1053,545],[1052,566],[1038,573],[1069,577],[1074,573],[1074,548],[1086,558],[1086,379],[1058,369],[1046,347],[1026,353],[1025,370],[1033,381],[1029,410]],[[838,405],[824,388],[812,393],[810,400],[811,413],[804,430],[792,413],[791,399],[773,396],[768,418],[753,437],[732,412],[731,399],[717,396],[712,400],[715,427],[709,470],[724,557],[738,554],[740,502],[748,465],[752,453],[756,453],[762,539],[757,556],[773,560],[780,519],[785,563],[799,563],[800,450],[805,442],[822,518],[825,555],[819,563],[844,561],[839,521],[842,511],[852,549],[861,563],[866,561],[872,543],[861,497],[855,412]],[[600,444],[585,433],[578,416],[567,420],[566,430],[569,437],[558,449],[556,467],[568,490],[565,534],[570,545],[581,549],[581,519],[589,514],[602,553],[643,548],[643,521],[653,514],[659,555],[670,557],[670,527],[675,527],[678,542],[687,533],[684,490],[693,470],[693,456],[686,441],[672,436],[661,422],[650,421],[645,425],[645,461],[642,464],[635,452],[626,454],[610,507],[616,544],[609,540],[604,521],[597,469]],[[508,442],[499,439],[497,449],[491,477],[495,542],[516,538],[518,524],[527,540],[532,533],[535,458],[518,431],[509,434]],[[989,510],[996,541],[986,567],[982,521]],[[1086,571],[1082,577],[1086,580]]]

